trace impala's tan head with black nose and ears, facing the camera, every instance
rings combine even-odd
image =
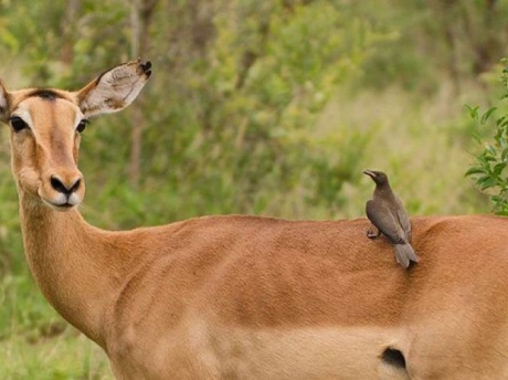
[[[19,191],[67,210],[85,194],[77,168],[81,134],[89,117],[127,107],[151,74],[140,60],[116,66],[76,92],[20,89],[0,83],[0,120],[11,134],[11,165]]]

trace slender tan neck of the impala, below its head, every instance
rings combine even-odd
[[[110,262],[115,255],[107,255],[104,232],[76,209],[59,212],[22,191],[20,217],[25,254],[42,293],[67,321],[104,346],[104,313],[121,276]]]

